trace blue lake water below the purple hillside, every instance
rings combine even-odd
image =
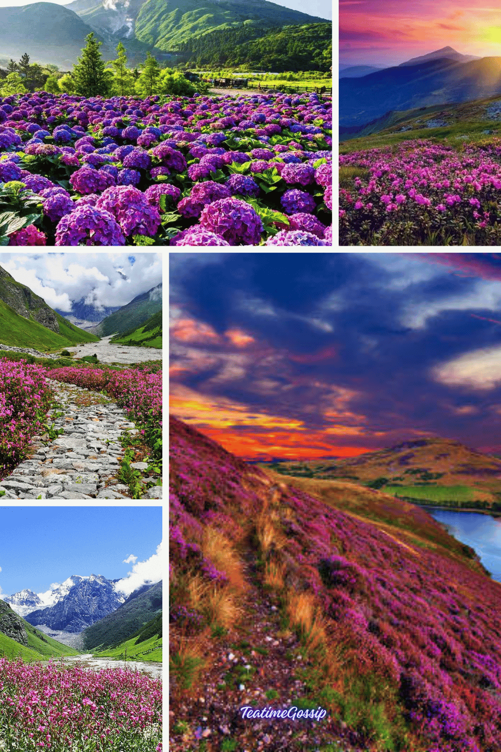
[[[446,509],[428,508],[427,511],[437,522],[446,525],[457,541],[474,548],[493,580],[501,582],[501,517]]]

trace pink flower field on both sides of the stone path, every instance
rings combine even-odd
[[[0,479],[23,458],[32,436],[44,431],[53,398],[47,378],[107,393],[142,426],[144,441],[161,459],[161,371],[51,368],[0,359]]]

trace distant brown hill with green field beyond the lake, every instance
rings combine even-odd
[[[284,475],[348,481],[419,503],[501,509],[501,462],[441,438],[406,441],[349,459],[273,462]]]

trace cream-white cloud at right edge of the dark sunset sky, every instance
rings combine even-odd
[[[449,387],[489,390],[501,384],[501,347],[485,347],[454,358],[432,371],[433,378]]]

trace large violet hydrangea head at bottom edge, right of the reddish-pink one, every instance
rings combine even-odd
[[[110,212],[77,204],[59,220],[56,245],[125,245],[125,238]]]

